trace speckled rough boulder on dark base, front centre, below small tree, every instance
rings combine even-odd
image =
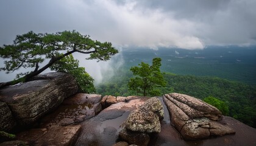
[[[119,137],[129,144],[148,145],[151,134],[160,133],[163,115],[161,101],[152,97],[130,113]]]

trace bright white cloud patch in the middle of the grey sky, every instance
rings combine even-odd
[[[135,9],[137,4],[135,1],[128,1],[122,5],[110,0],[96,1],[92,4],[81,1],[68,1],[68,3],[71,3],[71,8],[77,5],[76,11],[82,12],[78,14],[80,16],[83,15],[83,12],[88,13],[85,10],[90,11],[86,16],[95,15],[94,10],[99,9],[101,9],[101,12],[96,16],[99,16],[99,18],[104,15],[107,16],[107,23],[99,23],[93,26],[95,31],[93,32],[93,38],[100,40],[107,38],[107,41],[111,41],[118,46],[150,47],[151,49],[158,49],[158,47],[204,48],[204,43],[197,36],[190,33],[190,30],[195,27],[193,22],[176,20],[171,14],[163,13],[160,10]],[[90,7],[93,7],[93,9]],[[99,20],[96,19],[96,21]],[[113,24],[110,25],[109,21]]]

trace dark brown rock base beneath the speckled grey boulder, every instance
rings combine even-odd
[[[127,141],[129,144],[136,144],[141,146],[148,145],[150,140],[148,133],[130,131],[126,128],[123,128],[123,130],[119,132],[119,137]]]

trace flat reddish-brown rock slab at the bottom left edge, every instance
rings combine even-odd
[[[66,127],[55,127],[48,130],[47,128],[32,129],[17,134],[17,139],[27,142],[29,145],[56,145],[66,146],[73,145],[79,136],[80,125]]]

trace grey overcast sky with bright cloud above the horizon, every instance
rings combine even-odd
[[[30,30],[77,30],[117,48],[250,45],[255,8],[255,0],[1,0],[0,46]]]

